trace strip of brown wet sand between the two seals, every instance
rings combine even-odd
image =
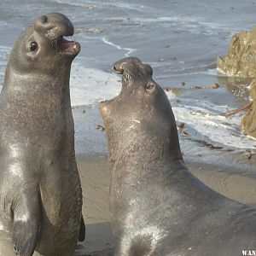
[[[108,210],[110,183],[107,156],[78,156],[83,188],[85,241],[79,244],[75,256],[113,255],[113,236]]]

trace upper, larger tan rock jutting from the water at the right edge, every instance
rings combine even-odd
[[[217,59],[217,69],[228,76],[256,77],[256,26],[232,37],[228,55]]]

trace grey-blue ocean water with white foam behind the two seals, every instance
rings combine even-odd
[[[227,53],[231,36],[256,25],[255,2],[1,0],[0,86],[19,33],[38,15],[61,12],[73,21],[73,38],[82,46],[71,73],[73,108],[96,108],[98,102],[116,96],[120,77],[112,73],[112,63],[137,56],[153,67],[158,84],[175,89],[166,94],[177,122],[185,124],[187,135],[180,133],[184,152],[191,142],[194,153],[202,143],[255,152],[256,141],[239,130],[242,113],[220,115],[249,101],[250,79],[230,79],[216,71],[216,58]],[[220,87],[191,89],[213,83]],[[76,129],[76,137],[85,137],[79,125]]]

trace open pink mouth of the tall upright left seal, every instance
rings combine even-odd
[[[58,49],[62,54],[73,55],[77,54],[80,50],[80,44],[74,40],[67,40],[63,36],[52,40],[50,44],[54,49]]]

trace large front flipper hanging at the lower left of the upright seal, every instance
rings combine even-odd
[[[26,187],[13,202],[13,244],[18,256],[32,256],[38,242],[42,212],[38,188]]]

